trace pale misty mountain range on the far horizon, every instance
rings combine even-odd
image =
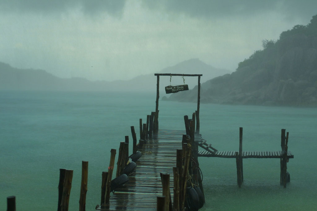
[[[199,59],[190,59],[177,65],[167,67],[161,73],[203,74],[201,81],[207,81],[230,71],[217,69]],[[185,83],[194,87],[197,77],[184,77]],[[172,77],[171,84],[183,84],[182,77]],[[170,77],[160,78],[160,91],[170,85]],[[156,76],[154,73],[140,75],[131,80],[89,81],[84,78],[58,78],[44,70],[17,69],[0,62],[0,90],[71,90],[71,91],[126,91],[156,93]]]

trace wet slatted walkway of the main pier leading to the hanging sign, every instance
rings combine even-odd
[[[162,195],[160,173],[170,174],[171,196],[173,197],[173,167],[176,166],[176,149],[182,148],[185,131],[159,130],[143,146],[142,157],[129,182],[116,189],[109,205],[97,210],[156,210],[158,195]],[[197,140],[200,135],[196,135]]]

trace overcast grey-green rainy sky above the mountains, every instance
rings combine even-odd
[[[0,61],[107,81],[191,58],[235,71],[316,8],[316,0],[0,0]]]

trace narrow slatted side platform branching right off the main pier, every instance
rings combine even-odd
[[[238,151],[217,151],[215,154],[208,151],[198,151],[198,157],[236,158]],[[283,151],[243,151],[242,158],[282,158]],[[292,152],[287,152],[288,158],[294,158]]]

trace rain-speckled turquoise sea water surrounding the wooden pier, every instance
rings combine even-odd
[[[159,102],[159,127],[184,129],[195,103]],[[0,92],[0,208],[16,195],[17,210],[56,210],[59,169],[73,169],[69,210],[78,210],[81,161],[89,162],[87,210],[100,204],[101,172],[110,149],[139,118],[155,110],[154,94],[102,92]],[[218,150],[280,150],[289,132],[291,183],[280,186],[279,159],[243,161],[244,183],[236,184],[236,162],[199,158],[206,204],[201,210],[315,210],[317,109],[201,104],[200,133]]]

